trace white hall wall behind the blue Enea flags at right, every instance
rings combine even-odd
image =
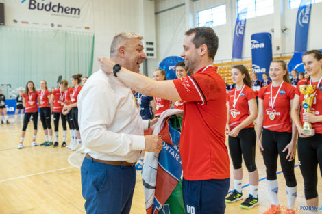
[[[190,1],[190,0],[189,0]],[[278,2],[278,1],[275,1]],[[184,0],[155,0],[156,12],[166,10],[175,5],[185,3]],[[226,3],[226,25],[214,27],[214,31],[219,36],[219,50],[215,61],[232,58],[232,41],[236,22],[236,0],[199,0],[193,2],[193,16],[195,27],[197,27],[197,11],[214,7]],[[321,20],[322,3],[312,5],[310,17],[310,29],[308,35],[308,49],[321,49]],[[243,58],[251,59],[251,34],[259,32],[270,32],[274,28],[274,19],[280,18],[282,27],[287,27],[281,35],[281,52],[291,53],[294,51],[295,25],[297,17],[297,8],[288,9],[288,1],[284,0],[282,12],[275,12],[267,16],[247,19],[246,31],[244,36]],[[186,11],[185,7],[175,8],[160,14],[156,14],[156,41],[158,54],[156,59],[148,59],[149,76],[153,75],[153,69],[167,56],[180,55],[182,51],[182,41],[186,29]],[[275,29],[275,32],[277,29]],[[274,33],[271,33],[274,36]],[[276,51],[273,50],[273,53]]]

